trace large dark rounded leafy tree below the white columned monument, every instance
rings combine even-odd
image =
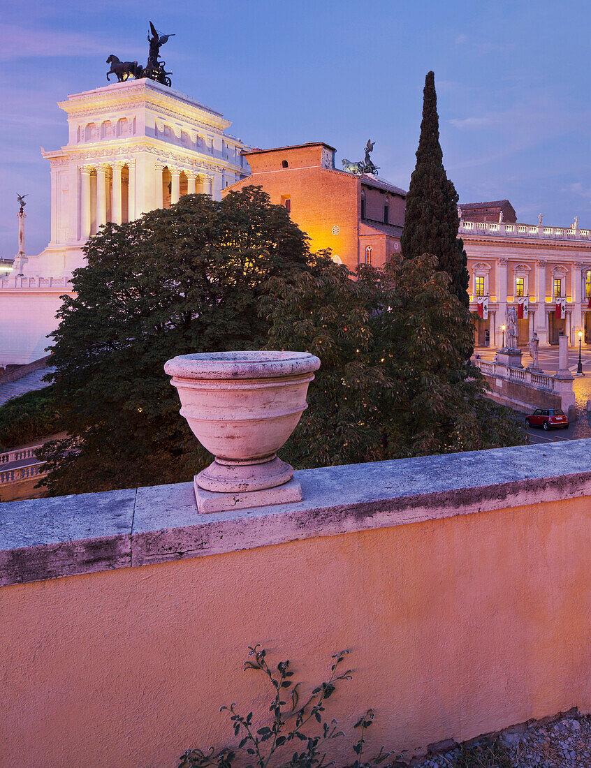
[[[45,482],[60,494],[188,480],[208,455],[178,415],[164,362],[264,346],[257,306],[271,277],[289,283],[310,268],[307,237],[247,187],[109,223],[85,253],[53,333],[52,389],[69,437],[45,446]]]

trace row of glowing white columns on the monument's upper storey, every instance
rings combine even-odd
[[[88,240],[108,221],[133,221],[154,208],[178,203],[181,194],[214,194],[214,175],[153,161],[91,162],[79,167],[80,239]],[[168,182],[170,176],[170,182]],[[170,184],[170,197],[164,187]]]

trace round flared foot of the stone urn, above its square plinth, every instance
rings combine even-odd
[[[246,493],[284,485],[293,476],[294,468],[272,454],[241,461],[216,458],[195,476],[195,483],[204,491]]]

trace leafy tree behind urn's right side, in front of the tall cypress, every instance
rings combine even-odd
[[[320,255],[293,284],[275,278],[264,300],[271,346],[322,361],[284,458],[314,467],[524,442],[463,356],[466,310],[436,257],[351,276]]]

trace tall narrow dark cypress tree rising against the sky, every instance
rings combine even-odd
[[[440,270],[447,272],[453,291],[468,309],[468,270],[463,242],[457,237],[458,196],[443,167],[439,143],[439,116],[435,74],[427,73],[423,91],[423,121],[420,124],[417,166],[410,177],[407,214],[400,240],[405,259],[437,257]]]

